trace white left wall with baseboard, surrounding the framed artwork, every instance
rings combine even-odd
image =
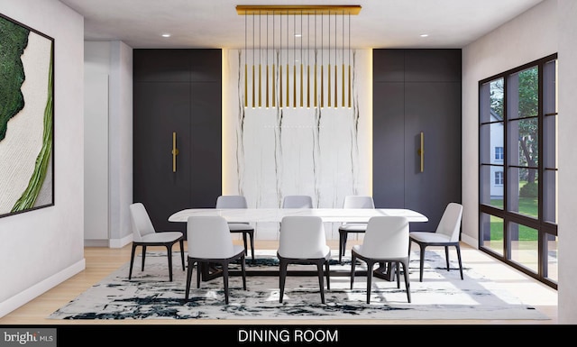
[[[54,204],[0,218],[0,316],[85,269],[84,20],[57,0],[0,13],[54,38]]]

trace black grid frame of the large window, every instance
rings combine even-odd
[[[556,156],[556,147],[554,151],[552,151],[551,147],[551,140],[550,138],[545,138],[545,136],[553,136],[555,137],[554,143],[556,143],[556,136],[557,132],[553,131],[546,131],[545,130],[545,119],[546,117],[557,117],[556,112],[556,102],[552,101],[548,98],[556,96],[557,93],[557,85],[556,80],[553,80],[553,87],[546,85],[545,82],[550,83],[551,81],[545,81],[545,68],[547,67],[548,63],[553,62],[555,63],[554,67],[558,66],[558,59],[557,54],[554,53],[542,59],[537,59],[531,61],[527,64],[519,66],[517,68],[512,68],[497,75],[491,76],[490,78],[484,78],[479,81],[479,249],[481,251],[487,252],[491,256],[502,260],[503,262],[507,263],[508,265],[512,266],[513,268],[519,269],[522,272],[526,273],[527,275],[540,280],[541,282],[545,283],[549,287],[557,288],[556,280],[549,278],[548,276],[548,269],[549,269],[549,256],[547,255],[548,251],[548,241],[551,241],[554,238],[555,242],[557,240],[557,224],[556,218],[555,221],[547,220],[547,216],[552,215],[552,208],[554,209],[554,214],[556,214],[556,195],[554,192],[551,192],[550,189],[552,187],[545,187],[545,185],[553,184],[556,188],[556,178],[547,178],[545,175],[549,175],[552,172],[556,174],[558,162],[554,160],[554,165],[550,165],[544,159],[545,155],[551,155],[552,153]],[[518,74],[521,71],[530,69],[530,68],[537,68],[537,83],[538,83],[538,111],[537,114],[523,114],[519,116],[515,114],[514,116],[509,116],[509,102],[511,100],[517,100],[518,96],[512,96],[511,93],[515,91],[509,90],[508,83],[511,80],[510,78],[513,77],[515,74]],[[551,73],[548,71],[548,73]],[[490,117],[487,117],[487,114],[483,114],[483,112],[487,113],[491,110],[491,104],[487,103],[487,97],[490,97],[490,84],[492,82],[499,82],[499,79],[502,78],[503,81],[503,100],[502,100],[502,121],[491,121]],[[513,88],[516,87],[515,84],[512,85]],[[552,94],[552,90],[554,89],[554,94]],[[515,89],[518,91],[517,89]],[[554,102],[555,110],[554,113],[550,110],[545,110],[545,102]],[[513,122],[524,121],[528,119],[535,119],[537,123],[537,148],[538,148],[538,157],[537,163],[535,166],[521,165],[521,163],[512,164],[509,158],[510,155],[516,154],[515,151],[518,153],[518,148],[515,149],[514,146],[519,146],[519,142],[513,140],[514,138],[510,139],[513,140],[511,143],[508,142],[508,137],[511,136],[514,128],[509,129],[509,126],[513,124]],[[558,118],[555,118],[553,121],[554,123],[557,122]],[[503,159],[497,159],[497,148],[499,146],[495,146],[490,143],[490,126],[495,123],[502,123],[503,125]],[[556,123],[555,123],[556,124]],[[518,126],[518,125],[517,125]],[[488,136],[489,134],[489,136]],[[547,152],[545,154],[545,142],[547,142]],[[494,153],[492,156],[487,157],[487,145],[493,147]],[[483,154],[484,153],[484,154]],[[485,161],[483,161],[485,160]],[[548,160],[551,161],[551,160]],[[545,164],[547,164],[545,166]],[[489,170],[488,170],[489,168]],[[491,169],[492,168],[492,169]],[[495,168],[499,168],[495,171]],[[502,169],[504,185],[503,185],[503,193],[502,193],[502,206],[499,204],[492,203],[490,199],[486,196],[488,194],[488,185],[496,184],[497,172]],[[513,170],[517,172],[520,169],[536,169],[536,183],[537,183],[537,216],[529,216],[523,215],[519,212],[512,211],[511,206],[517,205],[518,210],[518,196],[515,195],[515,188],[517,187],[517,195],[518,195],[518,181],[515,183],[513,177],[509,177],[509,171]],[[487,181],[487,173],[494,172],[493,177]],[[517,178],[518,179],[518,178]],[[551,183],[553,182],[553,183]],[[512,189],[512,190],[511,190]],[[545,197],[545,193],[547,196]],[[492,197],[491,197],[492,199]],[[513,200],[511,200],[513,199]],[[546,204],[546,206],[545,206]],[[486,246],[486,238],[490,236],[490,223],[488,223],[488,219],[490,217],[496,217],[503,221],[502,225],[502,233],[503,233],[503,242],[502,245],[498,242],[494,242],[498,246],[495,247],[502,247],[500,249],[491,249],[490,246]],[[537,242],[536,242],[536,252],[537,252],[537,266],[535,269],[528,269],[527,266],[524,266],[523,263],[517,262],[514,258],[513,253],[516,251],[514,247],[511,246],[512,240],[514,240],[515,231],[514,229],[518,225],[525,226],[527,228],[532,228],[537,231]],[[490,239],[489,239],[490,241]],[[488,242],[490,243],[490,242]]]

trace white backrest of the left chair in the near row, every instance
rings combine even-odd
[[[226,259],[234,256],[234,243],[226,220],[219,216],[190,216],[187,220],[188,256]]]

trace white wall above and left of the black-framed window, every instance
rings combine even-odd
[[[463,242],[479,239],[479,81],[557,52],[556,0],[463,48]]]

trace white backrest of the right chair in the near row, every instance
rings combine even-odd
[[[371,217],[361,245],[361,253],[371,258],[408,256],[408,219],[402,216]]]

